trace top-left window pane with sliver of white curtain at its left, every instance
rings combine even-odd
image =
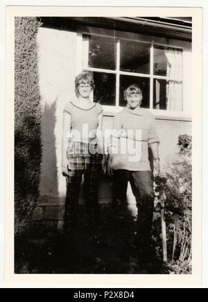
[[[116,42],[114,38],[83,35],[83,66],[116,69]]]

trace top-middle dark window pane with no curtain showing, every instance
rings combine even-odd
[[[121,40],[121,70],[150,74],[150,45]]]

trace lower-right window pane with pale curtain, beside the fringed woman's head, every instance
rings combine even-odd
[[[182,81],[154,79],[153,109],[182,111]]]

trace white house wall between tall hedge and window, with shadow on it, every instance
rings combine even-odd
[[[40,95],[42,119],[42,170],[40,195],[64,198],[65,182],[60,170],[62,109],[75,97],[76,33],[40,28]]]

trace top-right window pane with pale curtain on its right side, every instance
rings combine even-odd
[[[154,46],[154,74],[182,78],[182,49]]]

